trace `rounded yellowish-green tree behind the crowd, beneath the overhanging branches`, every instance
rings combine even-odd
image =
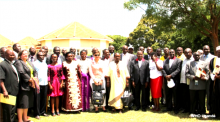
[[[142,16],[138,26],[129,34],[126,44],[133,45],[135,51],[139,46],[151,46],[154,50],[162,48],[170,41],[172,31],[158,31],[159,29],[161,27],[157,26],[156,19]]]

